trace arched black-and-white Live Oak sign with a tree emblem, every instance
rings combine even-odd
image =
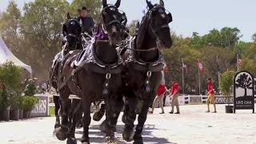
[[[247,71],[238,72],[234,77],[234,113],[235,110],[254,113],[254,77]]]

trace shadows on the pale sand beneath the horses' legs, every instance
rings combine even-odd
[[[124,128],[123,125],[118,125],[117,126],[116,137],[118,138],[118,143],[119,144],[132,143],[132,142],[125,142],[122,139],[122,137],[120,137],[120,134],[122,135],[123,128]],[[145,143],[150,143],[150,144],[165,144],[165,143],[175,144],[174,142],[169,142],[166,138],[155,137],[152,134],[152,132],[154,130],[158,130],[158,129],[156,129],[154,127],[154,125],[145,125],[144,126],[144,130],[142,132],[142,137],[143,137],[143,141]],[[82,131],[78,130],[76,132],[76,134],[81,134],[82,135]],[[99,130],[99,126],[98,125],[90,126],[90,142],[104,143],[105,142],[105,138],[104,137],[105,137],[105,134],[103,134]],[[78,138],[78,140],[80,141],[81,138]]]

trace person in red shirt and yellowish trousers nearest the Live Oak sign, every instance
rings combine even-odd
[[[206,113],[210,112],[210,101],[214,104],[214,112],[217,113],[216,111],[216,104],[215,104],[215,96],[214,96],[214,82],[212,82],[211,78],[207,79],[207,90],[208,90],[208,98],[207,98],[207,108],[208,110]]]

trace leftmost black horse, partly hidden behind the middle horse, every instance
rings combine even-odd
[[[58,91],[58,70],[61,67],[62,59],[64,59],[66,54],[71,50],[82,50],[81,31],[82,27],[79,22],[75,18],[70,18],[70,14],[67,14],[67,21],[63,24],[62,29],[63,34],[66,35],[66,42],[63,43],[62,51],[56,54],[54,62],[50,68],[50,84],[56,91]],[[54,128],[57,128],[60,126],[58,110],[60,110],[62,106],[62,102],[59,97],[54,96],[54,104],[56,117]],[[71,101],[69,101],[69,104],[71,105]]]

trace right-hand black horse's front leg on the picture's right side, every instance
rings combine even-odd
[[[146,116],[150,107],[150,104],[153,102],[153,99],[150,101],[145,101],[142,104],[142,111],[138,114],[138,125],[136,126],[136,131],[134,134],[134,144],[143,144],[142,139],[142,130],[144,123],[146,122]]]

